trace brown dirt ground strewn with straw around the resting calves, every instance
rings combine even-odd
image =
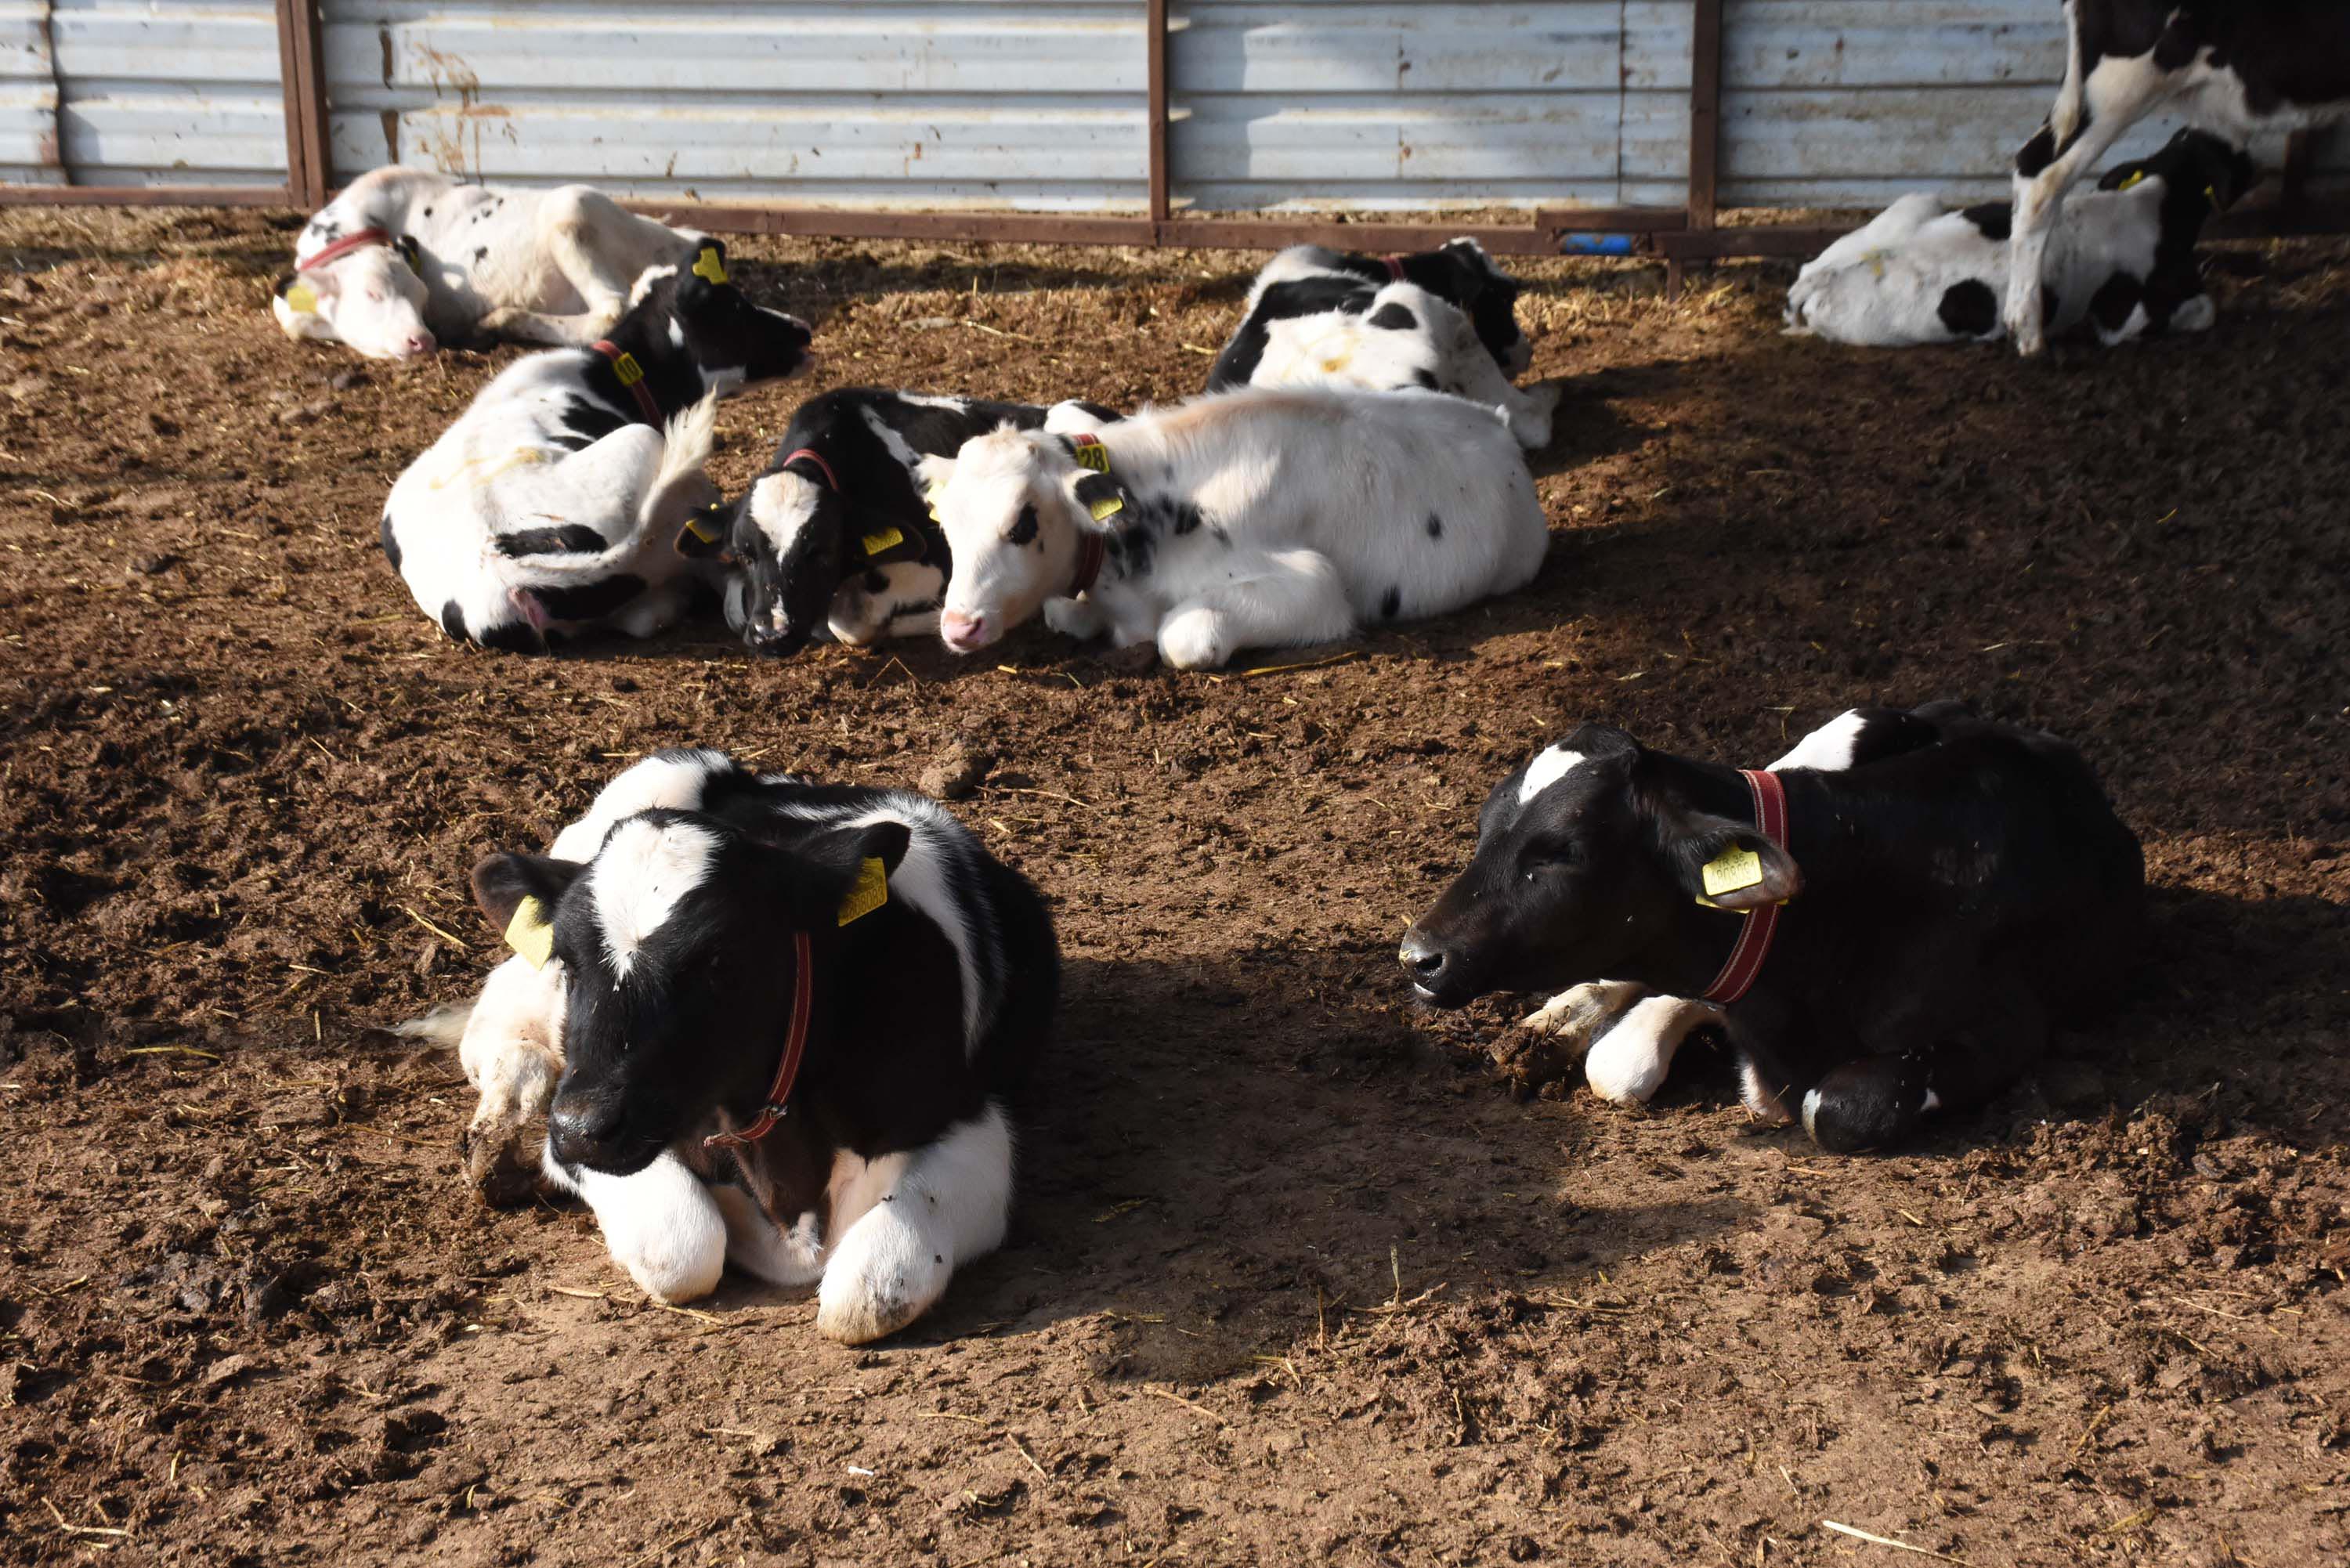
[[[2216,331],[1864,355],[1788,268],[1539,263],[1556,548],[1335,663],[1032,630],[754,663],[451,646],[392,475],[515,350],[266,315],[291,214],[0,214],[0,1559],[2296,1563],[2350,1552],[2350,247],[2214,254]],[[1250,256],[740,242],[813,381],[1191,393]],[[1328,651],[1316,654],[1323,658]],[[2148,846],[2138,1001],[1913,1150],[1513,1079],[1394,940],[1582,719],[1762,762],[1859,701],[2080,741]],[[841,1349],[660,1309],[475,1206],[378,1025],[623,759],[914,783],[1055,900],[1013,1241]]]

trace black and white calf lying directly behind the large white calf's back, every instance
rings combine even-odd
[[[1208,390],[1417,386],[1504,409],[1520,447],[1546,447],[1558,388],[1511,386],[1535,357],[1518,329],[1518,287],[1476,240],[1417,256],[1295,244],[1257,273]]]

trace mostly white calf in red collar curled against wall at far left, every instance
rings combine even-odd
[[[371,360],[482,336],[592,343],[637,277],[698,237],[592,186],[512,190],[395,165],[350,181],[303,226],[270,310],[291,339]]]

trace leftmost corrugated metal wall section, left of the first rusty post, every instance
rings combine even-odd
[[[0,0],[0,179],[280,186],[277,9]]]

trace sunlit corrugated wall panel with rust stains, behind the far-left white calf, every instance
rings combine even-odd
[[[825,207],[1144,200],[1140,5],[327,0],[334,167]]]

